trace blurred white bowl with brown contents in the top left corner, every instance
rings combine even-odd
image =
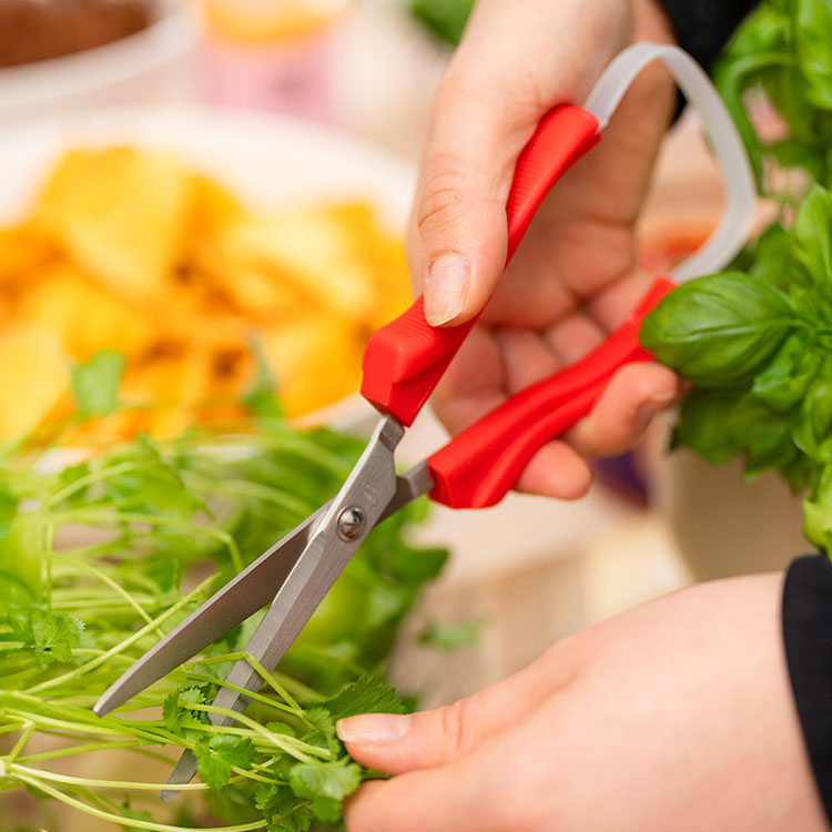
[[[0,69],[0,125],[91,106],[183,100],[197,43],[192,12],[162,3],[155,22],[126,38],[61,58]]]

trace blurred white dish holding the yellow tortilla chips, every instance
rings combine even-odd
[[[207,108],[102,110],[3,131],[0,224],[27,210],[65,148],[119,143],[176,151],[255,205],[367,200],[399,231],[415,182],[410,165],[374,145],[285,116]],[[361,430],[372,413],[356,395],[303,422]]]

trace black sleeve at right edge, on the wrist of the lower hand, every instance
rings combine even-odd
[[[832,564],[823,555],[789,567],[783,642],[809,762],[832,823]]]

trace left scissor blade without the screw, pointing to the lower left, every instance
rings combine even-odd
[[[154,645],[104,691],[93,711],[99,717],[109,713],[265,607],[292,571],[315,522],[331,503],[263,552]]]

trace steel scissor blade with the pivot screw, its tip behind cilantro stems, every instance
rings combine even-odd
[[[246,650],[266,669],[271,670],[283,658],[369,530],[393,510],[430,488],[430,475],[424,464],[405,477],[396,477],[393,451],[403,435],[404,428],[393,416],[382,418],[353,473],[332,500],[254,631]],[[390,508],[394,505],[395,508]],[[361,517],[361,528],[345,528],[346,516]],[[252,692],[263,684],[260,673],[243,659],[234,664],[227,681]],[[214,700],[215,706],[234,711],[243,711],[247,703],[245,694],[231,688],[222,688]],[[234,720],[212,714],[212,721],[230,724]],[[193,778],[196,760],[192,758],[189,752],[180,758],[168,781],[171,785],[181,785]],[[174,794],[175,789],[164,792],[165,799]]]

